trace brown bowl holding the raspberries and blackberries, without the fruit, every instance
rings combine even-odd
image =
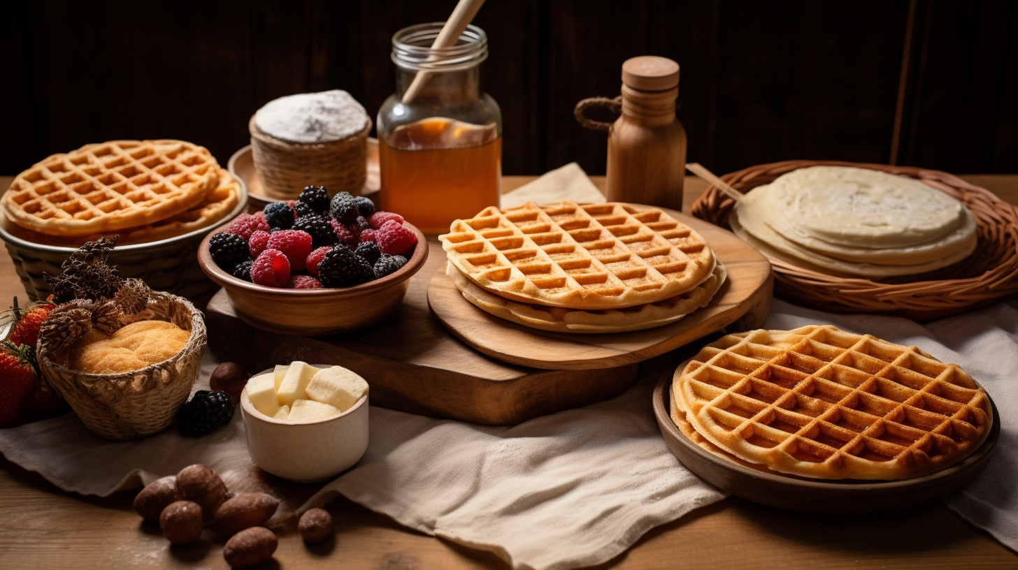
[[[425,266],[428,240],[407,222],[403,227],[417,236],[417,244],[399,271],[352,287],[328,289],[277,289],[237,279],[223,271],[209,252],[212,236],[225,231],[220,226],[202,240],[197,263],[210,279],[226,289],[233,309],[244,323],[273,333],[325,335],[363,329],[392,315],[409,285],[410,277]]]

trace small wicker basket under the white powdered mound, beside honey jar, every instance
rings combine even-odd
[[[266,195],[274,200],[294,200],[308,184],[325,186],[329,195],[341,191],[360,195],[367,180],[367,133],[372,120],[360,132],[331,142],[287,142],[269,136],[247,123],[251,133],[254,168]]]

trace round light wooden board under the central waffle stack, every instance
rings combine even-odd
[[[728,270],[728,279],[711,304],[671,325],[602,335],[531,329],[489,315],[464,299],[446,276],[444,266],[428,286],[428,303],[449,332],[480,352],[513,364],[556,370],[622,366],[664,354],[725,327],[737,332],[764,326],[774,291],[767,258],[727,230],[664,210],[699,232]]]

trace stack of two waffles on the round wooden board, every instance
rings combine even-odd
[[[546,331],[674,323],[710,303],[726,277],[698,233],[662,210],[626,204],[487,208],[439,239],[464,298]]]

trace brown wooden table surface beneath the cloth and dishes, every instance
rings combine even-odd
[[[1018,203],[1018,175],[963,178]],[[506,177],[505,186],[530,179]],[[602,185],[604,178],[595,182]],[[0,177],[0,187],[9,183]],[[687,207],[703,188],[699,180],[687,179]],[[13,295],[23,297],[23,290],[5,252],[0,302]],[[133,493],[110,499],[64,493],[0,459],[0,568],[227,568],[221,544],[170,549],[158,528],[140,524],[132,498]],[[267,567],[507,568],[493,554],[408,530],[342,498],[329,510],[336,521],[334,542],[307,549],[296,533],[281,535],[275,563]],[[825,517],[729,498],[651,530],[600,568],[1013,569],[1018,556],[941,504],[878,517]]]

